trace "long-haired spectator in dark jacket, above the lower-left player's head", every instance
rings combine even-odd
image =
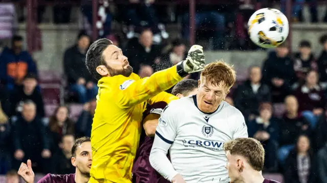
[[[74,134],[74,122],[69,118],[69,110],[66,106],[59,106],[49,119],[50,138],[53,144],[53,152],[60,150],[59,143],[66,134]]]

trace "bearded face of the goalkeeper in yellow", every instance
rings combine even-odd
[[[133,68],[129,65],[127,57],[123,55],[122,49],[119,47],[109,45],[103,51],[103,57],[106,64],[106,69],[104,69],[107,72],[106,75],[124,75],[128,77],[133,72]]]

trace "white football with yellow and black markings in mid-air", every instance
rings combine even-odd
[[[247,25],[252,42],[263,48],[273,48],[282,44],[289,32],[286,16],[272,8],[263,8],[254,12]]]

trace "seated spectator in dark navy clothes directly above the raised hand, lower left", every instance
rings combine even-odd
[[[50,143],[45,126],[36,116],[36,105],[32,100],[24,102],[21,116],[13,121],[13,146],[15,168],[22,162],[33,160],[35,172],[49,173]]]

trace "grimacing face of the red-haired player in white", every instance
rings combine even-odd
[[[216,111],[229,92],[224,82],[214,85],[211,81],[205,80],[205,77],[200,78],[198,87],[198,108],[205,113]]]

